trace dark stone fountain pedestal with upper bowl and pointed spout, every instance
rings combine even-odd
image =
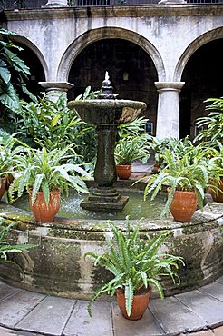
[[[128,202],[114,188],[117,181],[114,148],[119,124],[130,123],[137,118],[146,104],[115,98],[106,72],[102,82],[102,94],[98,99],[71,101],[68,107],[75,109],[80,118],[96,125],[98,134],[97,161],[94,170],[96,189],[81,203],[82,208],[101,212],[119,212]]]

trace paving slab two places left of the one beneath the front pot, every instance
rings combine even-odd
[[[60,336],[73,311],[74,303],[73,300],[47,296],[15,327],[19,330]]]

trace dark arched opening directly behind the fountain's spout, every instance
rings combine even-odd
[[[113,92],[121,99],[145,102],[143,115],[154,125],[155,134],[158,93],[154,82],[158,74],[150,58],[139,45],[130,41],[110,38],[86,46],[74,59],[68,82],[74,84],[68,99],[82,94],[87,86],[98,90],[102,86],[105,71],[108,71]]]

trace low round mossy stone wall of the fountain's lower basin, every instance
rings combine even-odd
[[[208,203],[203,212],[195,212],[187,223],[174,222],[171,218],[142,220],[142,236],[169,230],[165,251],[182,256],[186,262],[186,267],[179,269],[179,286],[163,282],[166,295],[192,290],[222,275],[222,209],[222,204]],[[89,299],[93,290],[110,277],[102,268],[94,267],[91,260],[83,258],[85,252],[104,251],[105,220],[58,217],[55,222],[38,223],[31,212],[6,203],[0,203],[0,212],[6,222],[15,222],[12,233],[15,242],[38,245],[15,255],[24,268],[24,275],[11,265],[0,265],[0,278],[5,282],[29,291]],[[114,222],[124,228],[125,221]]]

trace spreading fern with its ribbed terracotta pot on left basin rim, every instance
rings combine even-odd
[[[17,172],[9,187],[9,200],[14,201],[27,191],[29,204],[38,222],[52,222],[60,208],[60,195],[69,193],[69,188],[77,192],[88,193],[82,178],[89,178],[78,164],[63,163],[70,158],[71,146],[62,150],[45,148],[34,149],[26,146],[27,152],[21,153],[16,159]]]

